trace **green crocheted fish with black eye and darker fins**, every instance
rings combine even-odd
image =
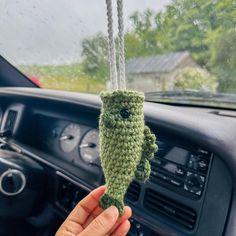
[[[149,178],[156,138],[144,124],[143,93],[116,90],[102,92],[101,99],[100,151],[106,192],[100,207],[114,205],[121,215],[130,182]]]

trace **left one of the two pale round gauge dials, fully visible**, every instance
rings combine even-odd
[[[60,146],[63,152],[72,152],[79,144],[80,127],[77,124],[69,124],[60,136]]]

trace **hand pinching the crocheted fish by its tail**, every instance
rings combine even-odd
[[[130,229],[129,218],[132,211],[124,207],[119,217],[116,207],[104,210],[99,207],[99,199],[105,186],[93,190],[81,200],[58,229],[56,236],[125,236]]]

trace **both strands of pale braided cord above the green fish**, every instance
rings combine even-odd
[[[116,49],[113,30],[112,0],[106,0],[107,20],[108,20],[108,45],[109,45],[109,64],[112,89],[126,89],[125,79],[125,50],[124,50],[124,20],[123,20],[123,0],[117,0],[118,16],[118,76],[116,64]]]

